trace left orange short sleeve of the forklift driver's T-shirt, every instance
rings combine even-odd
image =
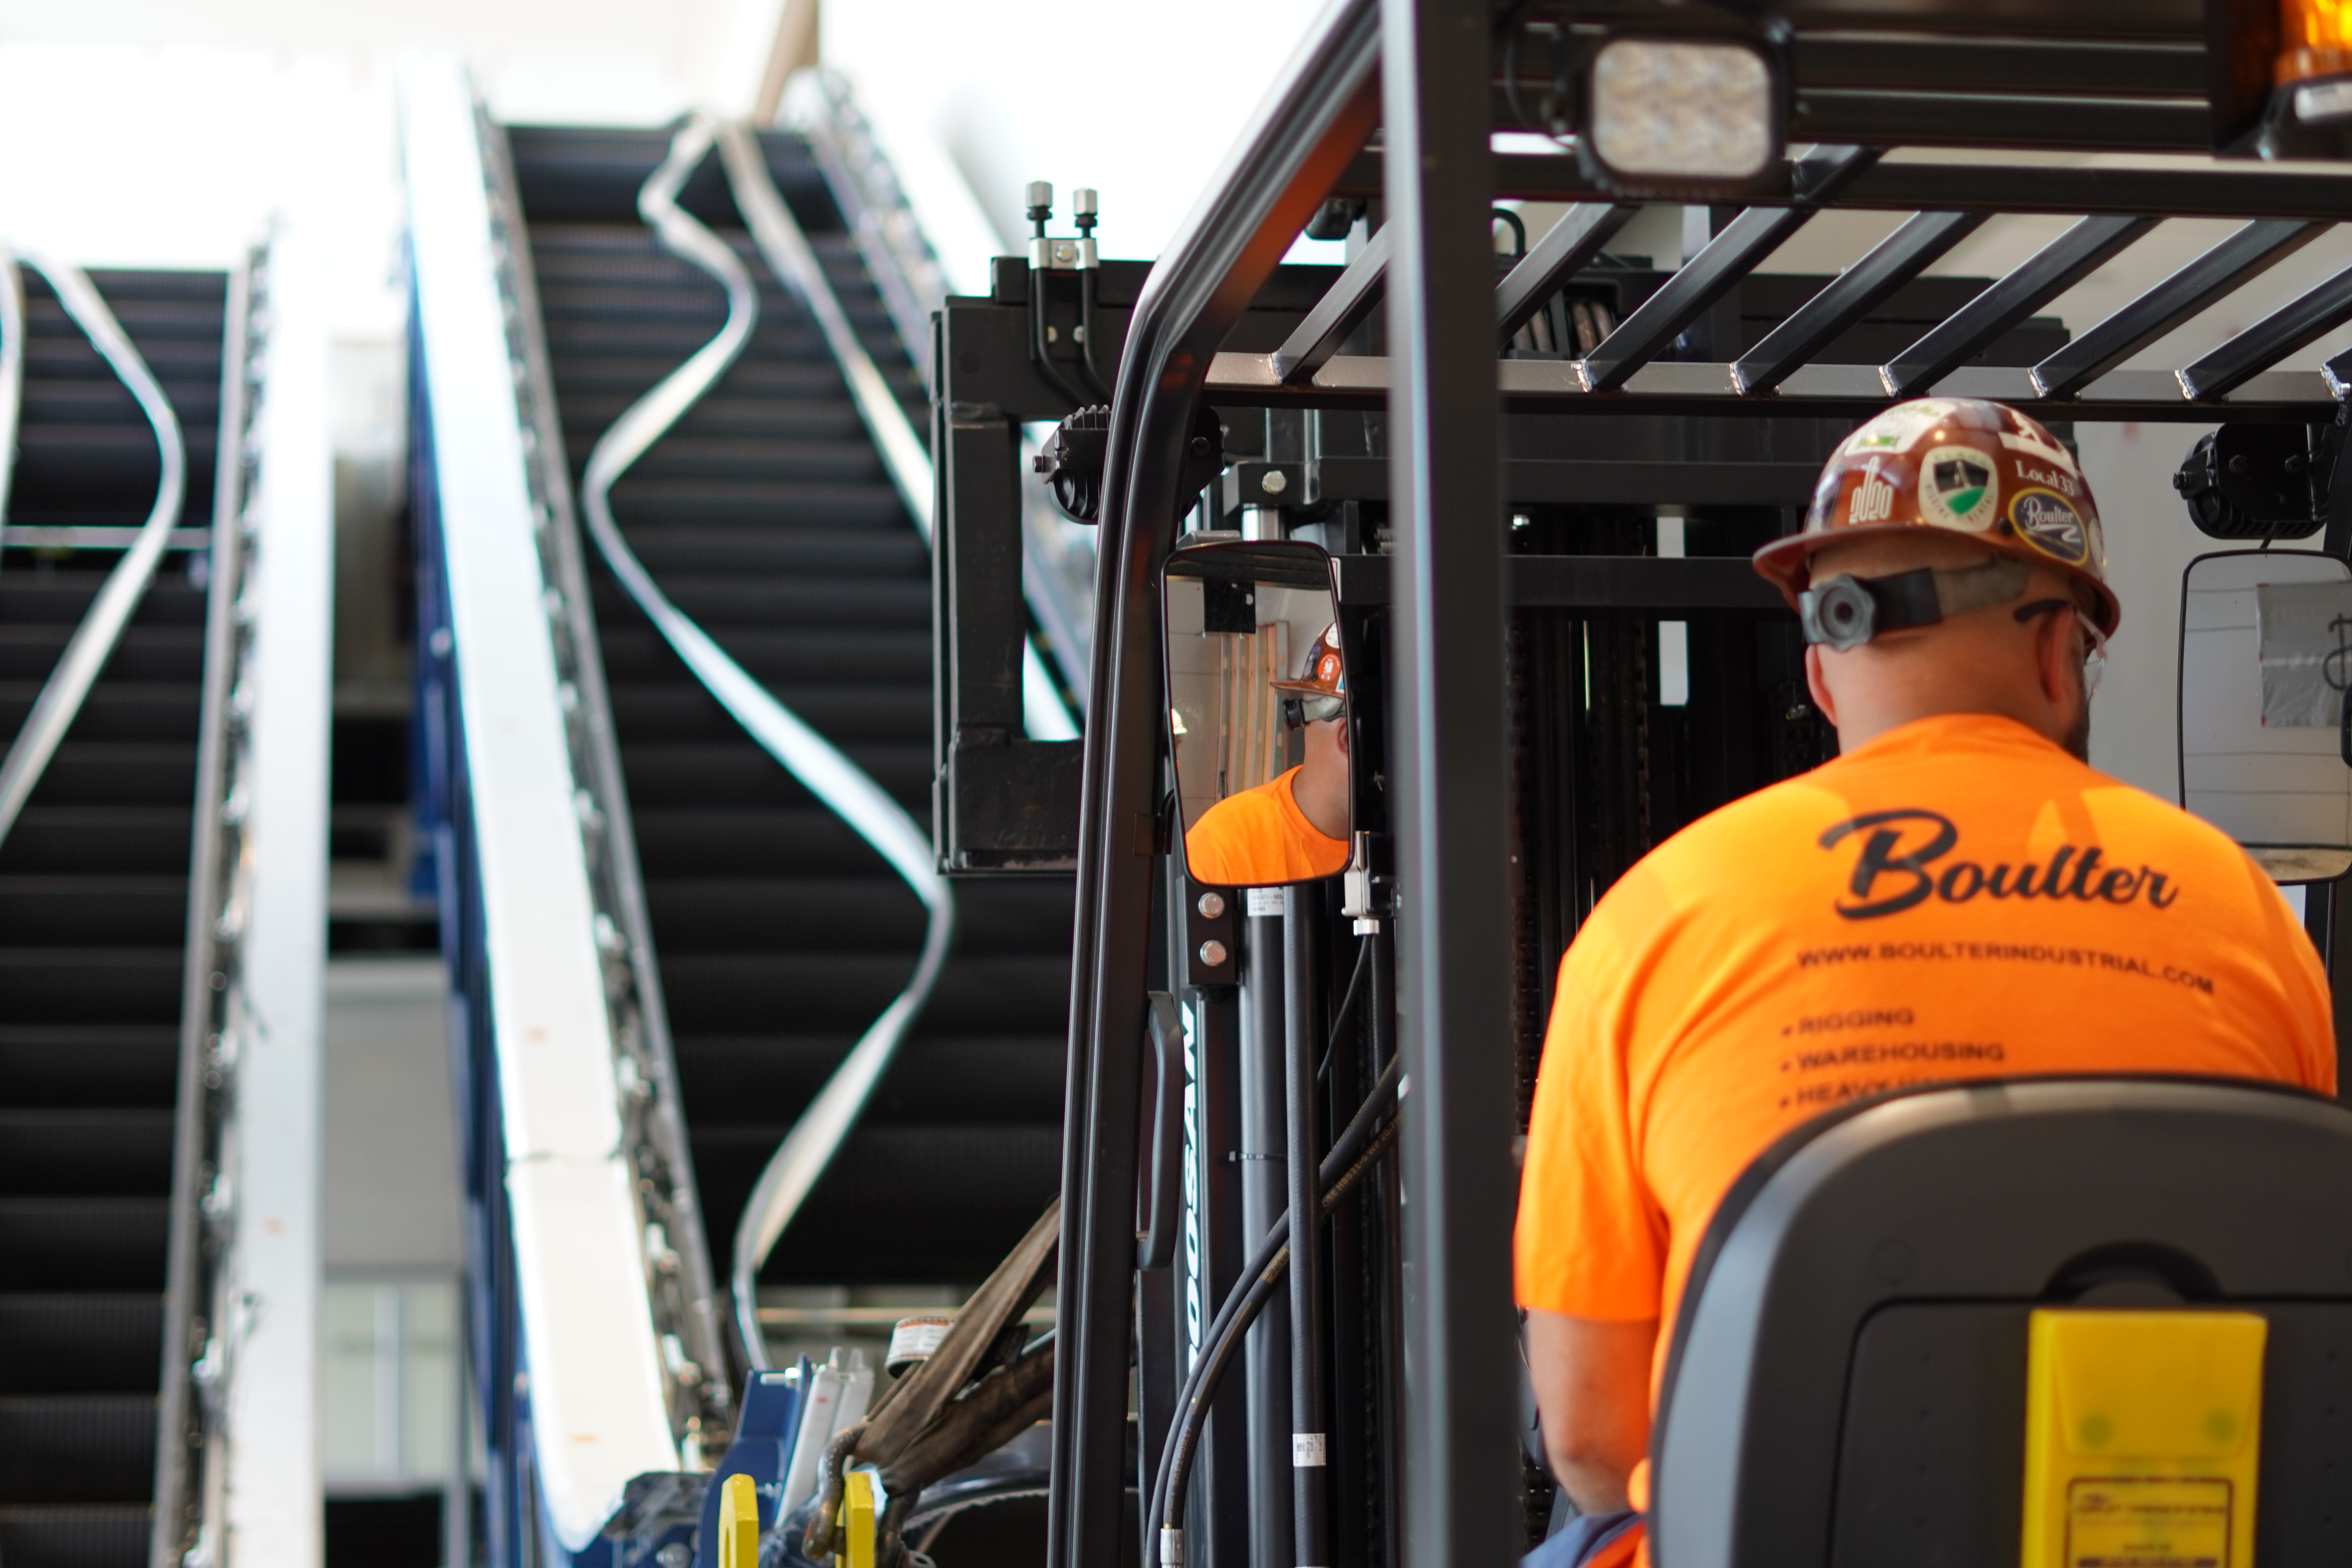
[[[1526,1128],[1515,1241],[1522,1307],[1606,1321],[1661,1312],[1668,1227],[1632,1135],[1625,985],[1588,922],[1559,964]]]

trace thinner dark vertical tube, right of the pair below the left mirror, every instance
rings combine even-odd
[[[1291,1540],[1296,1568],[1327,1568],[1329,1514],[1324,1476],[1329,1474],[1331,1422],[1324,1389],[1322,1354],[1322,1197],[1315,1171],[1322,1164],[1315,1138],[1315,1058],[1322,1056],[1322,1009],[1315,985],[1317,947],[1310,889],[1284,889],[1282,917],[1282,999],[1284,999],[1284,1100],[1289,1112],[1289,1208],[1301,1215],[1291,1225]]]

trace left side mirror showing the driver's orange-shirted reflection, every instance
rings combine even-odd
[[[1348,870],[1348,670],[1331,557],[1303,543],[1169,557],[1169,729],[1185,870],[1279,886]]]

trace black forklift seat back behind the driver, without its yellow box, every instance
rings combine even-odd
[[[2004,1079],[1823,1117],[1731,1190],[1651,1439],[1658,1568],[2016,1568],[2034,1307],[2267,1319],[2256,1556],[2352,1554],[2352,1110]]]

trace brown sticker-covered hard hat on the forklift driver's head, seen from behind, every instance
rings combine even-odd
[[[2091,484],[2056,435],[2002,402],[1922,397],[1886,409],[1839,442],[1804,529],[1757,550],[1755,567],[1795,609],[1816,550],[1910,529],[2065,571],[2086,590],[2091,623],[2114,635],[2124,609],[2107,588]]]

